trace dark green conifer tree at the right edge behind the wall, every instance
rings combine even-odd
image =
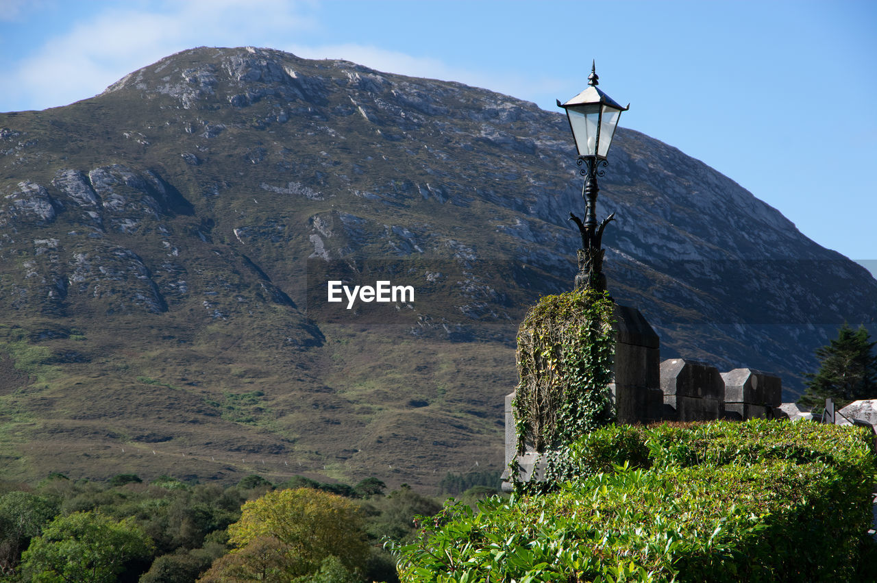
[[[853,331],[846,323],[831,344],[816,349],[819,370],[806,374],[807,390],[798,401],[818,407],[831,399],[843,407],[859,399],[877,398],[877,355],[865,326]]]

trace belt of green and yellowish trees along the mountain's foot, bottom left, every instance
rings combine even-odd
[[[442,489],[485,480],[448,474]],[[275,485],[258,475],[231,487],[134,474],[0,482],[0,578],[394,583],[384,544],[415,537],[413,517],[438,513],[442,498],[386,489],[376,478],[350,486],[296,476]],[[461,499],[495,493],[480,485]]]

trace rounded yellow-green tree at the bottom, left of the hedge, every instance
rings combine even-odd
[[[228,533],[235,549],[200,580],[289,580],[316,573],[329,557],[353,572],[369,556],[359,508],[310,488],[268,492],[246,502]]]

